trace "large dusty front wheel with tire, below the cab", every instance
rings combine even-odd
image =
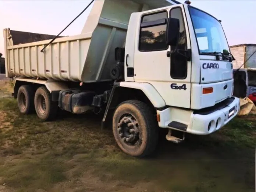
[[[153,112],[146,103],[138,100],[128,100],[117,106],[112,121],[113,134],[124,153],[145,157],[154,152],[159,139],[159,127]],[[128,134],[132,135],[131,139]],[[128,142],[127,138],[130,139]]]

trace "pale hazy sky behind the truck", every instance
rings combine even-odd
[[[184,3],[184,0],[178,0]],[[222,20],[228,44],[256,44],[256,0],[191,0],[197,7]],[[88,4],[90,0],[0,0],[0,53],[4,56],[3,29],[57,35]],[[90,6],[92,7],[92,5]],[[62,34],[81,33],[90,8]]]

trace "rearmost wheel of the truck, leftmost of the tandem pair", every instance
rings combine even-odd
[[[35,91],[30,85],[22,85],[19,87],[17,94],[17,102],[19,111],[22,114],[28,115],[35,111],[34,106]]]

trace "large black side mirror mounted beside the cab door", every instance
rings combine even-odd
[[[179,19],[168,18],[166,26],[166,44],[176,46],[179,39]]]

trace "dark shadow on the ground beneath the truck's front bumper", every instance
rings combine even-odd
[[[236,143],[229,145],[221,137],[211,135],[199,136],[186,134],[185,140],[179,144],[165,139],[167,130],[160,130],[159,145],[155,157],[157,159],[205,159],[205,160],[248,160],[248,156],[241,156]],[[219,133],[214,133],[218,135]],[[214,135],[214,136],[215,136]]]

